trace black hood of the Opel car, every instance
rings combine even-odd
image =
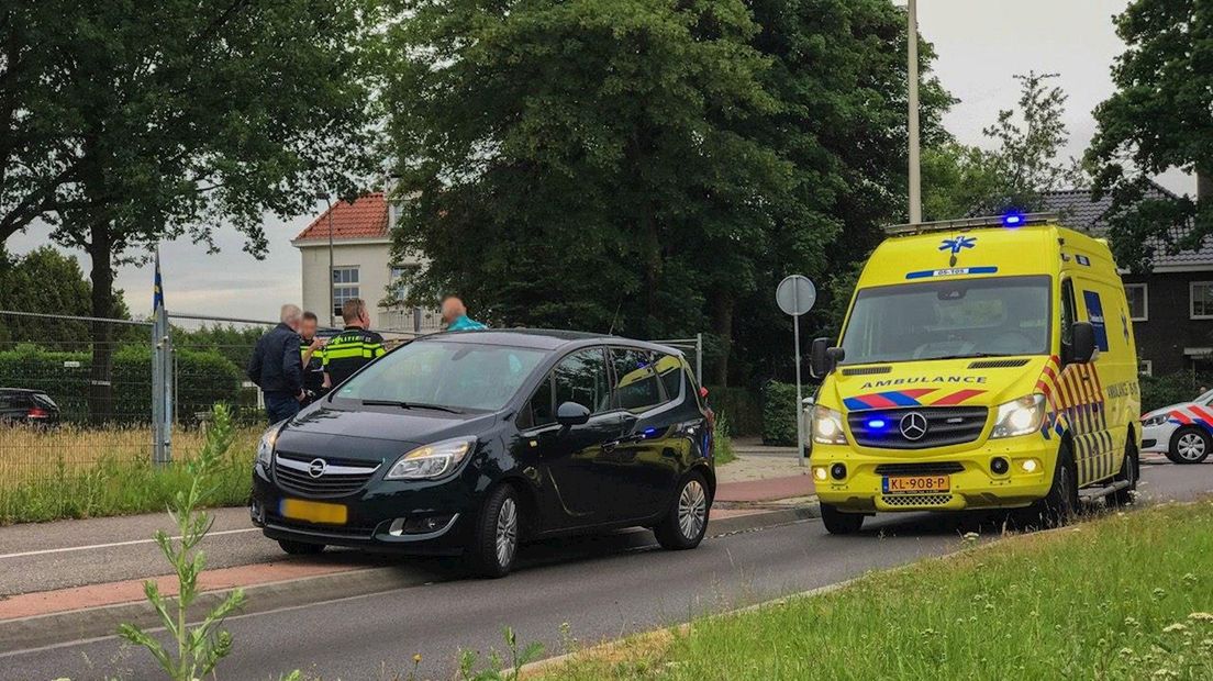
[[[386,462],[421,445],[482,434],[497,419],[492,413],[385,410],[344,411],[326,405],[307,410],[283,428],[275,450],[307,457]]]

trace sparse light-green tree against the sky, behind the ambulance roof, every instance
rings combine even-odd
[[[1065,126],[1066,93],[1048,81],[1058,74],[1016,75],[1018,109],[1003,109],[983,132],[993,149],[955,141],[923,154],[923,214],[953,219],[1036,211],[1048,191],[1082,185],[1086,176],[1074,159],[1063,158],[1070,133]]]

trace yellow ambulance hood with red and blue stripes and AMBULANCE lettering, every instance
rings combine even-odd
[[[1037,391],[1044,356],[922,360],[838,367],[818,401],[859,411],[928,406],[995,406]]]

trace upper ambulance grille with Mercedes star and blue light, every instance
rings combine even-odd
[[[919,413],[927,422],[927,433],[911,440],[901,433],[901,419]],[[909,407],[896,410],[865,410],[847,414],[847,424],[855,442],[864,447],[883,450],[926,450],[972,442],[985,428],[986,407]],[[873,427],[873,422],[884,422]]]

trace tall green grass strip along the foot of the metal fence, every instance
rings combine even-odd
[[[247,500],[261,431],[246,428],[237,433],[229,453],[210,479],[215,485],[213,494],[207,497],[210,505],[241,505]],[[45,440],[39,450],[45,457],[36,475],[23,467],[24,475],[0,483],[0,525],[163,511],[178,492],[189,488],[186,464],[198,454],[204,437],[197,430],[175,435],[175,460],[165,467],[152,464],[150,447],[135,454],[114,447],[132,437],[126,430],[33,435]],[[56,441],[66,446],[51,447]],[[86,450],[89,459],[80,460]]]

